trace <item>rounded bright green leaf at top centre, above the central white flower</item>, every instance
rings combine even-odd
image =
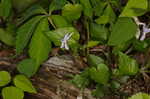
[[[62,16],[68,21],[74,21],[80,18],[82,12],[81,4],[66,4],[62,9]]]

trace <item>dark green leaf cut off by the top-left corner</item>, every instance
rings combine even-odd
[[[11,12],[11,8],[12,8],[11,0],[1,0],[0,5],[1,5],[0,16],[6,19],[10,15],[10,12]]]

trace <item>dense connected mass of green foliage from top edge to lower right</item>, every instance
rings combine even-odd
[[[103,96],[105,90],[117,89],[129,76],[141,72],[136,60],[124,52],[130,46],[133,51],[146,52],[150,46],[150,39],[136,38],[139,27],[134,21],[150,10],[149,0],[128,0],[125,5],[120,0],[27,1],[0,3],[0,19],[5,24],[0,27],[0,40],[15,47],[17,55],[24,51],[29,55],[17,66],[21,74],[33,76],[68,33],[72,33],[67,42],[71,52],[77,55],[87,49],[89,68],[72,80],[79,88],[94,82],[93,95]],[[84,44],[79,43],[84,38]],[[106,58],[89,54],[88,49],[97,45],[112,48],[117,68],[110,68],[110,52],[103,52]]]

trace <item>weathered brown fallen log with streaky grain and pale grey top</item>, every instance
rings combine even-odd
[[[1,60],[0,70],[16,71],[16,64]],[[69,55],[54,56],[43,63],[38,73],[31,78],[37,94],[26,93],[24,99],[95,99],[91,91],[83,92],[68,80],[68,75],[79,74],[74,59]]]

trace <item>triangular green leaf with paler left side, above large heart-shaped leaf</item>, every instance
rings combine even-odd
[[[102,16],[95,20],[97,24],[107,24],[114,23],[116,20],[116,15],[110,5],[107,5]]]

